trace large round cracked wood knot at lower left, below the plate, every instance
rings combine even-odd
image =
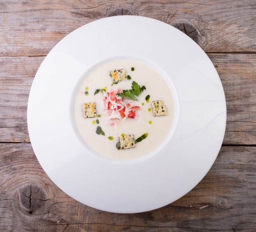
[[[19,189],[21,209],[26,213],[43,213],[47,206],[47,193],[37,184],[29,184]]]

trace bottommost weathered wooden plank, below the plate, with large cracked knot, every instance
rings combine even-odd
[[[30,143],[2,143],[0,154],[0,231],[256,229],[256,147],[222,147],[192,191],[163,208],[136,214],[95,210],[67,196],[40,167]]]

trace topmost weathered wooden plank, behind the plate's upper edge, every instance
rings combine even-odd
[[[188,29],[191,25],[198,33],[190,31],[189,36],[206,52],[256,51],[252,0],[5,0],[0,2],[0,55],[47,55],[64,36],[88,22],[131,14]]]

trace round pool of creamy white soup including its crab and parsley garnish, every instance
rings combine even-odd
[[[94,102],[95,112],[90,111]],[[167,82],[137,60],[114,60],[95,67],[85,75],[74,101],[74,119],[81,137],[95,152],[111,159],[134,159],[152,152],[168,135],[173,111]],[[131,136],[131,148],[126,148],[124,141],[120,147],[119,136]]]

